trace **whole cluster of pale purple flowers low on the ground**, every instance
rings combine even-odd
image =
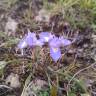
[[[70,45],[72,42],[68,39],[62,37],[56,37],[50,32],[41,32],[39,35],[39,39],[34,32],[28,32],[27,35],[19,42],[18,48],[23,49],[27,46],[34,47],[40,46],[42,47],[46,42],[50,48],[50,56],[52,59],[57,62],[61,57],[60,47],[64,47]]]

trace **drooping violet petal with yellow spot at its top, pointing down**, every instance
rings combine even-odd
[[[61,57],[61,51],[60,48],[56,48],[56,47],[51,47],[50,48],[50,56],[52,57],[52,59],[57,62],[60,57]]]

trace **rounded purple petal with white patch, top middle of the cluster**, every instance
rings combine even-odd
[[[40,39],[42,39],[43,42],[49,42],[54,37],[54,35],[49,32],[41,32],[39,34],[39,37]]]

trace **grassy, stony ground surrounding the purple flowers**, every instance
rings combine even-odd
[[[96,0],[3,0],[0,5],[0,96],[96,95]],[[77,39],[62,48],[55,63],[46,46],[25,48],[21,55],[17,44],[28,29]]]

